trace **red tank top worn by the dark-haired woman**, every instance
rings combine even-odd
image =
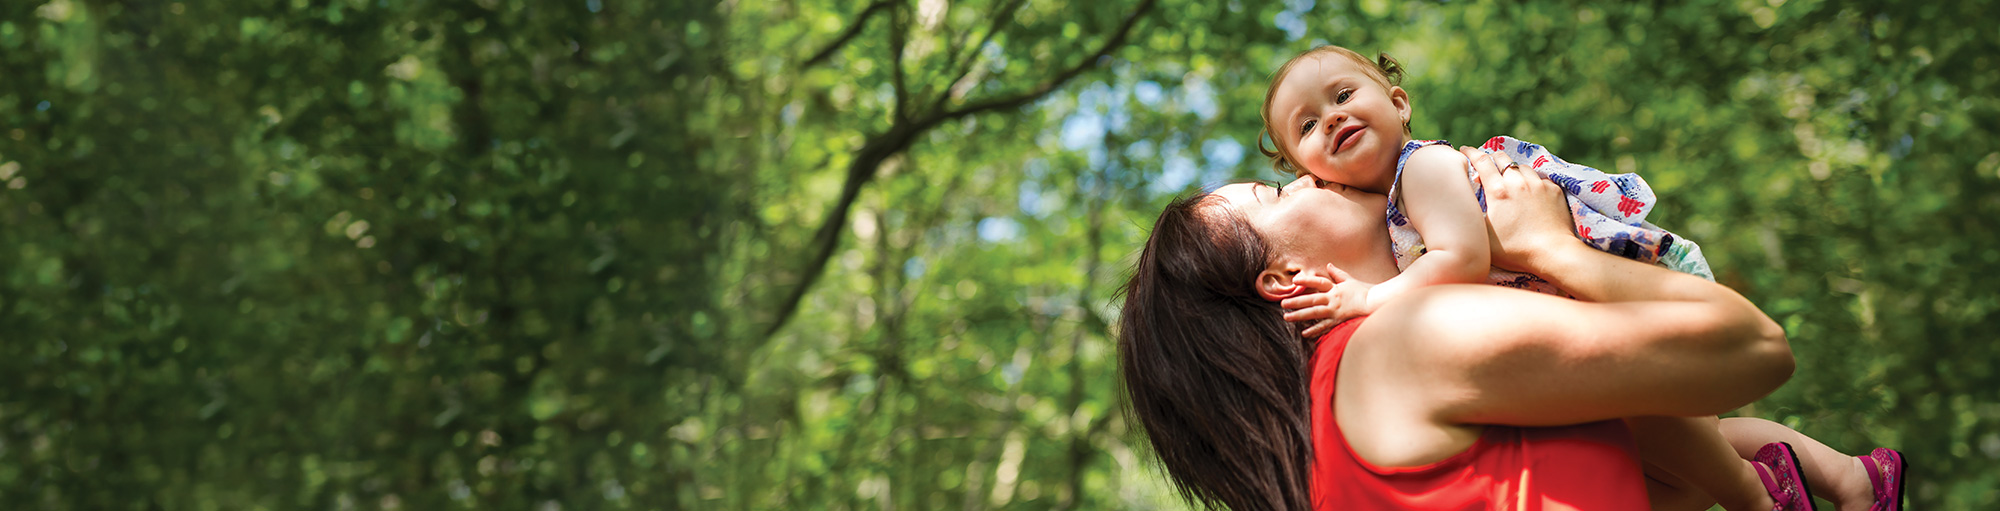
[[[1334,423],[1334,377],[1362,319],[1340,323],[1312,353],[1314,509],[1646,509],[1638,451],[1622,421],[1564,427],[1488,425],[1466,451],[1420,467],[1376,467]]]

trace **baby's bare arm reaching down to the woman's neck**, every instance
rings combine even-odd
[[[1450,146],[1410,154],[1402,170],[1402,212],[1410,218],[1410,228],[1424,236],[1424,256],[1370,289],[1368,311],[1416,287],[1486,281],[1492,248],[1486,242],[1486,214],[1466,180],[1464,154]]]

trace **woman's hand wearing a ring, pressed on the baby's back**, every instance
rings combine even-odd
[[[1472,160],[1472,170],[1486,188],[1486,222],[1492,236],[1492,261],[1502,269],[1542,273],[1540,261],[1558,250],[1588,250],[1576,240],[1562,188],[1532,170],[1516,166],[1506,154],[1484,154],[1458,148]]]

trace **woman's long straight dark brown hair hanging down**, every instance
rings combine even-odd
[[[1174,489],[1208,509],[1310,509],[1308,345],[1256,293],[1274,250],[1210,194],[1176,198],[1126,281],[1118,367]]]

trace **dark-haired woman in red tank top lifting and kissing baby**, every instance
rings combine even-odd
[[[1644,509],[1612,419],[1714,415],[1790,377],[1784,331],[1742,295],[1586,248],[1552,184],[1468,158],[1492,261],[1582,301],[1438,285],[1302,345],[1278,299],[1332,267],[1370,283],[1396,273],[1382,196],[1302,180],[1168,206],[1126,285],[1120,365],[1184,497],[1238,511]]]

